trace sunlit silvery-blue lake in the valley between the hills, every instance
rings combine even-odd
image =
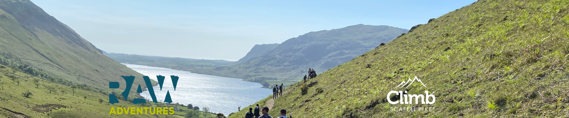
[[[158,102],[164,102],[166,92],[170,91],[172,103],[192,104],[200,107],[200,110],[208,107],[210,112],[223,113],[225,116],[237,112],[238,106],[241,106],[241,109],[249,110],[245,107],[273,94],[272,90],[261,88],[262,85],[259,83],[242,81],[238,78],[218,77],[143,65],[124,65],[154,81],[158,81],[156,75],[166,77],[162,91],[160,91],[160,86],[153,86]],[[172,86],[170,75],[180,77],[176,91]],[[148,91],[143,91],[141,96],[151,100]]]

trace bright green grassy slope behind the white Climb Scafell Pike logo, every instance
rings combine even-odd
[[[294,117],[569,117],[568,14],[566,0],[481,0],[325,71],[311,80],[318,81],[312,87],[292,85],[269,113],[285,108]],[[415,76],[427,88],[419,82],[395,88]],[[429,91],[436,100],[390,104],[392,90]]]

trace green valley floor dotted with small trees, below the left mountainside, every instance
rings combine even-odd
[[[0,87],[0,118],[183,117],[189,110],[178,106],[183,111],[176,111],[174,115],[109,115],[111,107],[174,107],[174,105],[151,102],[147,102],[147,104],[132,104],[120,99],[120,103],[109,104],[108,94],[90,91],[89,87],[72,88],[13,70],[7,66],[0,65],[0,85],[2,85]],[[37,82],[34,80],[37,80]],[[50,92],[47,89],[49,87],[55,89]],[[64,92],[61,92],[62,90]],[[22,94],[25,92],[31,92],[32,94],[28,96],[29,98],[26,98]],[[131,92],[131,94],[135,93]],[[200,112],[200,114],[200,117],[216,116],[206,112]]]

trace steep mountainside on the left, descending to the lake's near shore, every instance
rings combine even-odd
[[[29,68],[62,78],[60,81],[108,88],[108,82],[113,81],[125,85],[121,75],[143,76],[104,56],[31,1],[0,1],[0,27],[0,52],[11,54],[9,58],[17,58]],[[135,84],[146,86],[142,79],[135,80]]]

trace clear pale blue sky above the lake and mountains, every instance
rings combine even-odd
[[[476,0],[31,0],[109,53],[236,61],[255,44],[356,24],[409,29]]]

